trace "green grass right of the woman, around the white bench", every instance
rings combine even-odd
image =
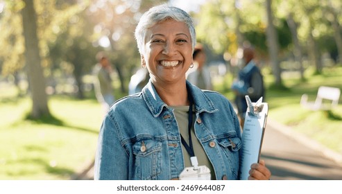
[[[282,76],[285,88],[276,89],[271,86],[273,76],[264,71],[266,84],[266,102],[268,103],[268,118],[284,125],[289,125],[296,132],[309,136],[327,148],[342,153],[342,103],[332,111],[311,111],[300,106],[302,94],[308,94],[309,100],[316,98],[318,87],[321,85],[338,87],[342,90],[342,67],[326,67],[321,75],[308,71],[306,80],[299,76],[284,73]],[[225,85],[216,84],[216,90],[221,91],[232,100],[234,94],[226,86],[231,84],[231,77],[224,78]]]

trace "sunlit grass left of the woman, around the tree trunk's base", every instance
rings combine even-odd
[[[103,116],[96,100],[53,97],[53,116],[26,118],[28,98],[0,102],[0,179],[70,179],[94,159]]]

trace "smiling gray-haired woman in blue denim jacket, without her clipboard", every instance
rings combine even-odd
[[[142,92],[117,100],[103,120],[94,179],[239,179],[241,130],[225,96],[191,85],[196,33],[180,8],[155,6],[135,30]],[[264,161],[250,179],[269,179]]]

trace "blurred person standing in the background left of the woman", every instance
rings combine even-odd
[[[103,109],[107,111],[114,103],[114,94],[112,87],[112,67],[103,51],[96,54],[98,63],[94,67],[94,82],[95,95],[97,100],[103,105]]]

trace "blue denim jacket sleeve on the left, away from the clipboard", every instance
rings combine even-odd
[[[110,116],[106,116],[99,133],[94,179],[128,179],[128,155],[119,140],[119,130]]]

